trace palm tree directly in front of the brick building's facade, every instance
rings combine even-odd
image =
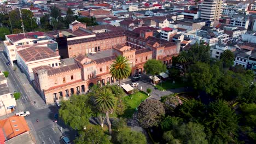
[[[110,73],[114,79],[118,79],[120,86],[120,80],[126,79],[131,74],[131,65],[129,60],[119,55],[115,58],[113,64],[110,65]]]

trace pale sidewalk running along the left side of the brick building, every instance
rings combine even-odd
[[[15,67],[17,66],[15,65]],[[48,105],[44,103],[44,100],[40,97],[40,95],[31,86],[30,82],[27,80],[26,75],[24,73],[21,73],[18,67],[16,68],[14,73],[17,75],[19,81],[24,87],[24,90],[27,93],[28,99],[31,100],[31,104],[37,109],[45,109],[46,107],[48,107]],[[34,101],[36,101],[36,103],[34,103]]]

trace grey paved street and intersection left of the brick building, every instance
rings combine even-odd
[[[36,143],[61,143],[60,137],[62,134],[74,139],[74,131],[69,131],[63,122],[53,122],[58,107],[56,105],[45,105],[43,99],[34,91],[26,79],[26,75],[21,73],[19,69],[14,71],[11,65],[5,64],[6,62],[8,62],[7,58],[3,52],[0,52],[0,68],[3,71],[9,71],[7,81],[10,91],[21,93],[21,98],[16,101],[16,110],[9,116],[15,115],[19,111],[30,111],[31,115],[25,118]],[[36,119],[39,119],[39,122],[36,122]],[[63,133],[61,133],[61,128]]]

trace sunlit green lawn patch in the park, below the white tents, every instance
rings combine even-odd
[[[130,94],[123,98],[124,103],[127,107],[126,111],[124,112],[123,117],[132,118],[133,113],[136,111],[136,108],[141,104],[141,102],[148,98],[148,95],[140,91],[136,94]]]

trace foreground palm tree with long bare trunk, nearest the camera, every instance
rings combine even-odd
[[[96,108],[106,114],[109,134],[112,133],[109,112],[113,111],[116,102],[117,99],[115,99],[114,94],[108,88],[100,89],[95,95]]]

